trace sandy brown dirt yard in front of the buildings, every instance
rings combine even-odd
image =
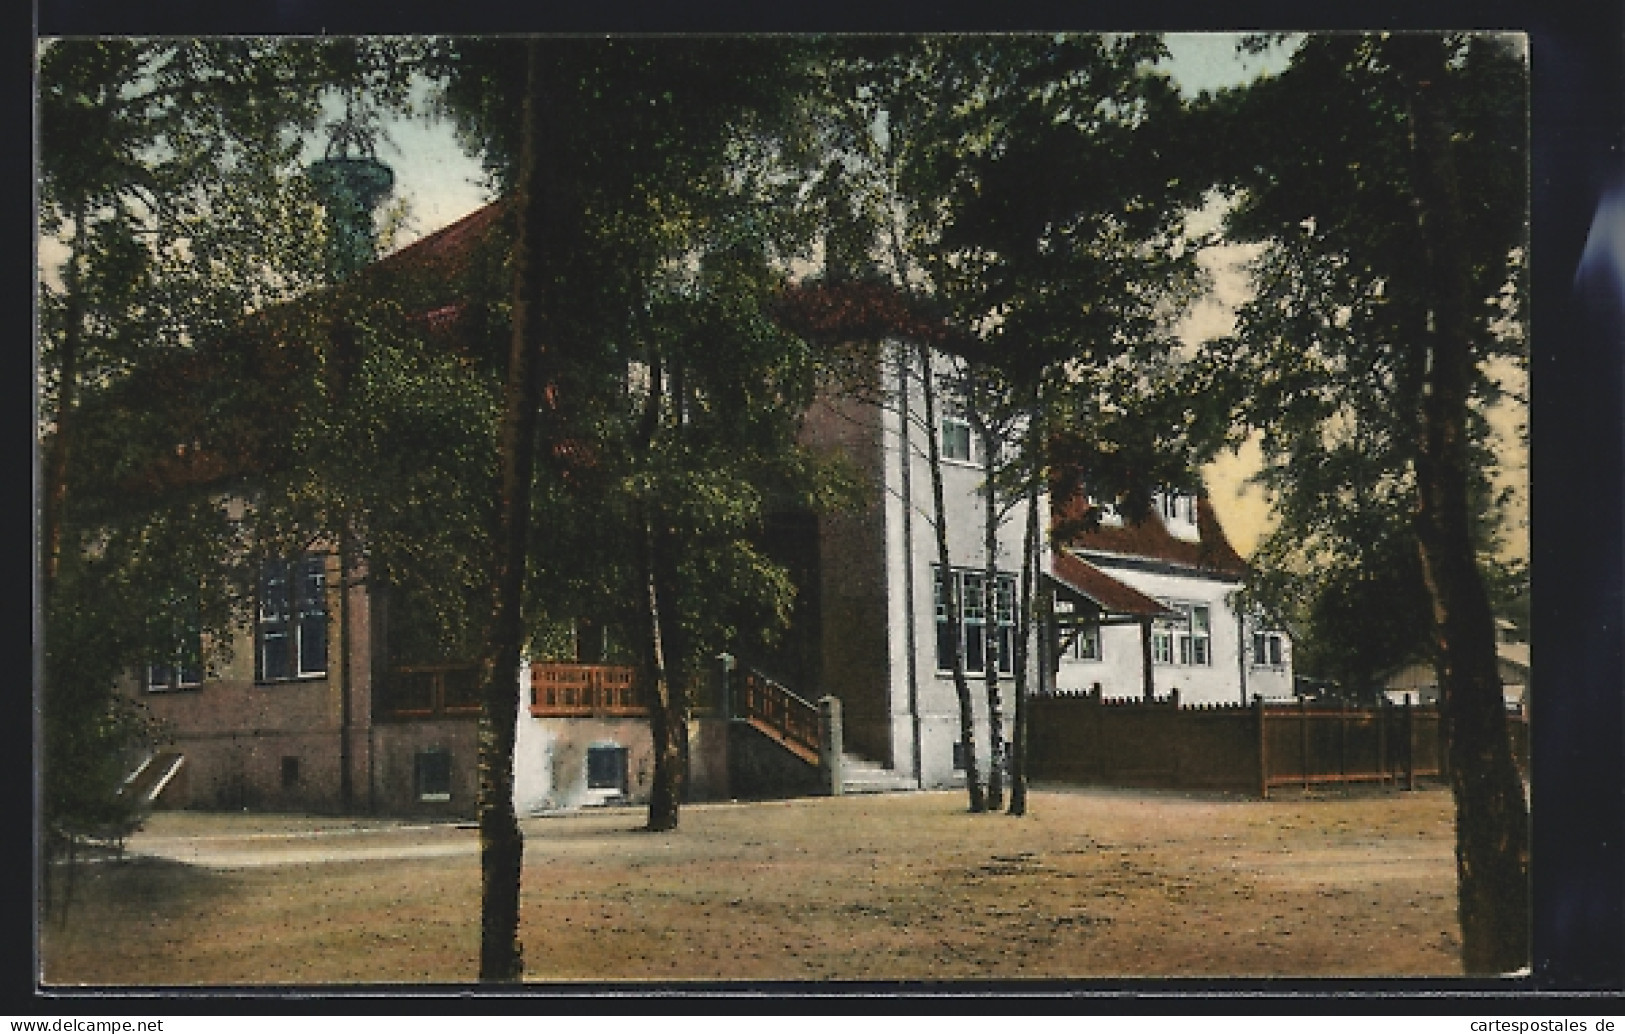
[[[526,819],[528,980],[1454,975],[1441,789],[1258,802],[1046,789]],[[47,984],[468,984],[478,834],[159,813],[41,923]]]

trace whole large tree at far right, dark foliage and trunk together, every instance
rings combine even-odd
[[[1380,577],[1394,610],[1430,615],[1471,972],[1518,969],[1529,949],[1528,811],[1479,559],[1490,364],[1524,346],[1526,75],[1492,34],[1316,36],[1216,104],[1220,174],[1240,189],[1227,231],[1264,247],[1217,354],[1264,429],[1284,502],[1272,548],[1326,572],[1323,616],[1372,603],[1376,564],[1415,550]]]

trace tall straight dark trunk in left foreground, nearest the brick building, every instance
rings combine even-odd
[[[502,392],[499,439],[496,577],[491,629],[481,658],[479,712],[479,979],[518,980],[518,888],[525,842],[514,813],[514,733],[525,624],[525,545],[536,460],[536,411],[546,354],[549,260],[557,247],[556,98],[548,86],[554,55],[541,41],[528,49],[525,137],[518,177],[518,241],[514,252],[514,330]]]

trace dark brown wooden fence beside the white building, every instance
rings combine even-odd
[[[1436,707],[1341,704],[1202,704],[1107,701],[1098,693],[1030,701],[1034,779],[1058,782],[1240,790],[1373,782],[1414,787],[1438,777]],[[1513,751],[1528,759],[1528,723],[1508,715]]]

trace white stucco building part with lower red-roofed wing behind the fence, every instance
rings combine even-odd
[[[986,569],[982,445],[951,395],[954,361],[938,356],[934,363],[946,389],[936,428],[923,419],[916,353],[897,346],[878,350],[866,384],[824,393],[803,426],[803,441],[845,457],[864,481],[868,501],[855,512],[822,517],[816,543],[806,546],[816,556],[811,569],[817,580],[806,587],[816,605],[801,634],[814,647],[804,654],[809,662],[801,665],[796,691],[840,697],[847,749],[921,787],[962,779],[952,637],[938,603],[925,436],[938,436],[942,455],[949,579],[968,602],[962,616],[965,667],[983,772],[990,756],[988,663],[999,670],[1006,740],[1011,735],[1012,650],[998,644],[1009,644],[1014,634],[1025,519],[1025,507],[1011,507],[998,530],[998,603],[994,613],[983,613],[977,605]],[[1046,494],[1038,507],[1038,527],[1048,530]],[[1181,702],[1290,697],[1290,642],[1238,618],[1233,593],[1246,564],[1206,501],[1157,496],[1155,509],[1138,525],[1108,517],[1066,543],[1045,537],[1043,567],[1058,613],[1048,644],[1035,644],[1029,686],[1045,693],[1100,684],[1107,697],[1139,697],[1149,668],[1154,691],[1167,696],[1178,689]]]

